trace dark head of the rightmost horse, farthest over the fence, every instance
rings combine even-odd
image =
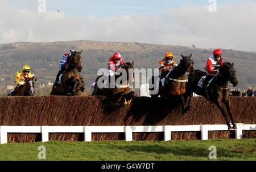
[[[234,70],[234,63],[225,62],[219,69],[219,74],[224,80],[230,81],[233,84],[233,87],[236,87],[238,84],[236,70]]]

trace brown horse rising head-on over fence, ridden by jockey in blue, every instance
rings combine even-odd
[[[70,50],[71,51],[71,50]],[[71,51],[71,57],[67,61],[67,69],[61,76],[61,85],[53,85],[50,95],[80,96],[81,95],[81,76],[82,58],[81,53]],[[83,91],[83,90],[82,90]]]

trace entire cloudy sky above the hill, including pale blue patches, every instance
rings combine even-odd
[[[255,19],[255,0],[9,0],[0,1],[0,44],[94,40],[256,51]]]

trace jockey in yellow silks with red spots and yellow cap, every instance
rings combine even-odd
[[[32,78],[33,75],[31,75],[31,72],[30,72],[30,66],[24,65],[22,70],[19,70],[16,72],[16,75],[14,76],[15,78],[14,84],[16,85],[16,87],[8,95],[12,96],[16,91],[18,91],[18,88],[20,86],[25,84],[25,79]]]

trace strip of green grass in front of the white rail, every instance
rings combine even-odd
[[[217,149],[217,161],[256,160],[255,139],[7,143],[0,145],[0,160],[43,161],[38,158],[40,145],[46,147],[47,161],[208,161],[211,145]]]

